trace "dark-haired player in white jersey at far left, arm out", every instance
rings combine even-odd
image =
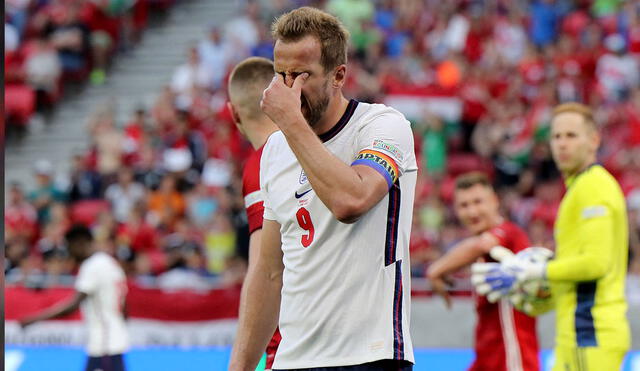
[[[96,251],[91,231],[74,226],[65,235],[67,248],[80,264],[74,297],[32,317],[20,321],[22,327],[35,322],[63,317],[81,307],[87,321],[89,359],[85,371],[124,371],[123,353],[129,347],[124,319],[127,285],[124,271],[109,254]]]

